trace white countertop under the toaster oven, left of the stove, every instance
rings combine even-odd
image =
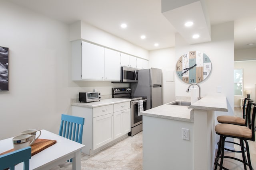
[[[83,106],[83,107],[100,107],[100,106],[106,106],[110,104],[117,104],[117,103],[130,102],[130,101],[131,101],[130,99],[124,99],[124,98],[110,98],[110,99],[100,100],[100,102],[89,102],[89,103],[75,102],[75,103],[72,103],[71,105]]]

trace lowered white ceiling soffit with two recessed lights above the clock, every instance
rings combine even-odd
[[[200,0],[187,0],[177,3],[177,0],[162,0],[162,14],[175,27],[189,44],[211,41],[210,21],[204,13]],[[184,24],[192,21],[194,24],[186,27]],[[194,39],[194,34],[200,35]]]

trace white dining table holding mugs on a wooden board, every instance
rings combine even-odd
[[[84,145],[46,130],[41,132],[40,139],[56,140],[57,143],[32,156],[30,170],[49,170],[71,158],[73,170],[81,170],[81,149]],[[0,153],[13,148],[12,138],[0,141]],[[23,170],[23,163],[17,164],[15,170]]]

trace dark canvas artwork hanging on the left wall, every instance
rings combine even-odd
[[[0,90],[9,90],[8,60],[9,60],[9,48],[0,47]]]

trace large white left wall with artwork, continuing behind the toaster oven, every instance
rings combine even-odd
[[[0,140],[26,129],[58,133],[70,99],[97,89],[111,96],[129,84],[71,81],[69,25],[0,1],[0,46],[9,47],[9,91],[0,92]],[[112,39],[113,40],[113,39]]]

